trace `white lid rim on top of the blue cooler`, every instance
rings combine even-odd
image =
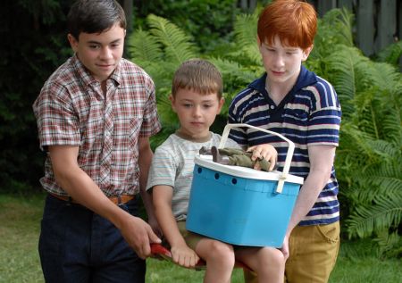
[[[223,165],[221,163],[214,162],[212,159],[212,155],[200,155],[197,154],[194,161],[196,164],[206,167],[208,169],[214,171],[220,171],[222,173],[226,173],[232,176],[247,178],[247,179],[266,179],[266,180],[279,180],[281,177],[281,171],[258,171],[252,168],[242,167],[242,166],[234,166],[234,165]],[[288,174],[285,179],[286,182],[303,184],[304,179],[298,176]]]

